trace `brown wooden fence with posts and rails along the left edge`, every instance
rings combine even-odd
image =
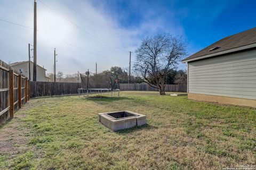
[[[0,60],[0,125],[29,100],[29,80]]]

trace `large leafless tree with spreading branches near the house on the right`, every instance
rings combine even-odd
[[[135,53],[134,71],[165,95],[166,74],[186,55],[186,44],[180,37],[162,34],[142,40]]]

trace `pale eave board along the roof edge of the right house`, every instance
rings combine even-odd
[[[188,60],[182,60],[181,62],[182,63],[187,63],[187,62],[201,60],[201,59],[209,58],[209,57],[213,57],[213,56],[218,56],[218,55],[238,52],[240,50],[254,48],[254,47],[256,47],[256,43],[249,44],[249,45],[246,45],[246,46],[237,47],[237,48],[232,48],[232,49],[228,49],[228,50],[224,50],[222,52],[217,52],[217,53],[213,53],[213,54],[203,55],[203,56],[199,56],[199,57],[196,57],[196,58],[191,58],[191,59],[188,59]]]

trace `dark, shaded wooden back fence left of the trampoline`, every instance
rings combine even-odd
[[[81,83],[30,81],[30,97],[77,94]]]

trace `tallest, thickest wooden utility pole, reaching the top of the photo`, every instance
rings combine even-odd
[[[33,81],[36,81],[36,31],[37,31],[37,26],[36,26],[36,0],[34,2],[34,65],[33,65]],[[29,63],[30,64],[30,63]]]

